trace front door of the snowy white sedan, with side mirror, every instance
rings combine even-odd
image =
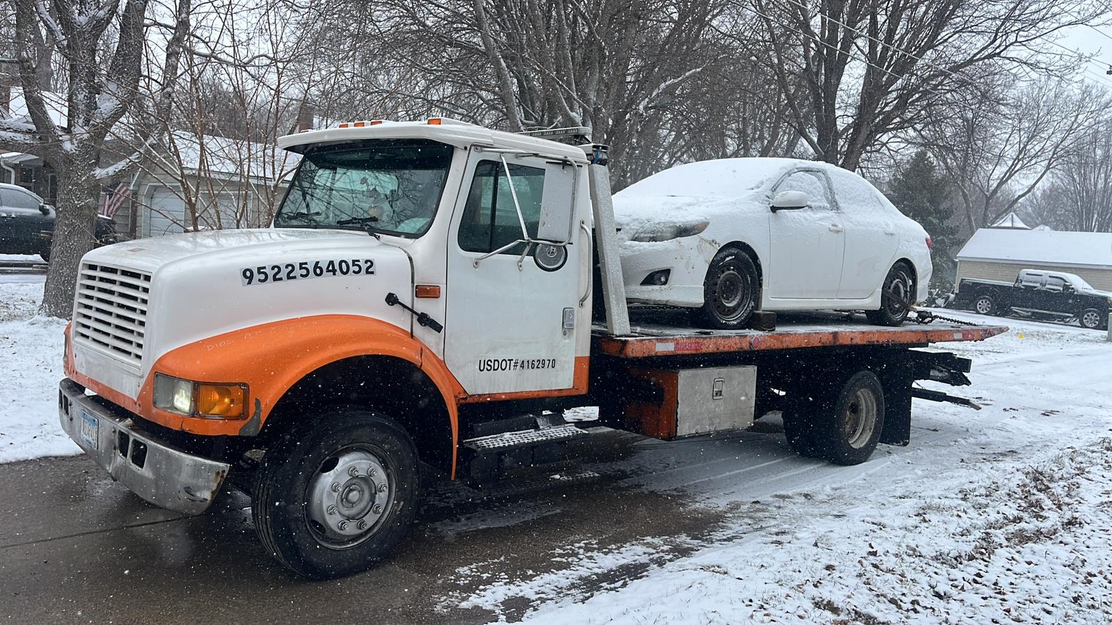
[[[777,210],[768,218],[770,257],[764,288],[772,299],[835,299],[842,280],[845,228],[826,175],[797,169],[782,178],[773,196],[803,191],[811,199],[800,210]]]

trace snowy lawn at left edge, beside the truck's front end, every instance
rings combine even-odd
[[[42,280],[0,274],[0,463],[80,453],[58,425],[66,323],[38,316]]]

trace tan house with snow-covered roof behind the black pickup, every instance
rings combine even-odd
[[[1014,281],[1020,269],[1066,271],[1112,290],[1112,232],[981,228],[957,252],[962,278]]]

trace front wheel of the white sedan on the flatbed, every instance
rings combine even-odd
[[[759,301],[761,278],[753,259],[733,247],[718,251],[703,282],[703,307],[697,309],[701,325],[744,328]]]

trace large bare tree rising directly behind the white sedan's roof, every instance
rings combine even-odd
[[[850,170],[946,95],[976,92],[970,70],[1043,68],[1055,56],[1042,41],[1102,11],[1084,0],[752,1],[782,87],[805,79],[806,97],[788,101],[795,128]]]

